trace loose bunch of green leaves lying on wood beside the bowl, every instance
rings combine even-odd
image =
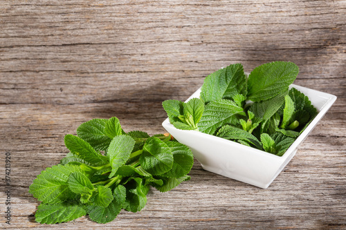
[[[66,135],[69,153],[37,175],[29,192],[41,202],[40,223],[68,222],[83,215],[107,223],[121,209],[145,207],[149,187],[170,191],[185,180],[194,162],[190,149],[170,135],[125,133],[116,117],[81,124]]]

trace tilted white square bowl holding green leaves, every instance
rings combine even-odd
[[[336,96],[328,93],[294,84],[291,84],[290,88],[292,87],[309,97],[311,104],[317,108],[318,115],[281,157],[221,137],[175,128],[170,124],[168,118],[162,125],[176,140],[191,149],[194,157],[206,171],[266,189],[289,163],[297,152],[298,146],[336,100]],[[186,102],[194,97],[199,98],[200,93],[201,88],[194,92]]]

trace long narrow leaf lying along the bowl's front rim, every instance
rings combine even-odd
[[[257,137],[244,131],[242,128],[235,126],[225,125],[222,126],[217,132],[217,137],[222,137],[227,140],[244,140],[250,142],[256,148],[262,149],[261,143],[257,140]]]

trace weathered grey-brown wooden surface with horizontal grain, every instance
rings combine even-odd
[[[346,1],[0,1],[1,187],[12,155],[13,229],[346,229]],[[28,186],[67,153],[65,134],[96,117],[163,133],[165,99],[242,63],[300,66],[295,84],[338,96],[268,189],[201,169],[152,190],[139,213],[37,224]],[[3,190],[3,189],[2,189]]]

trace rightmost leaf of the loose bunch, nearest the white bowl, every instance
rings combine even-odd
[[[166,178],[180,178],[188,174],[194,164],[194,156],[190,148],[179,142],[167,142],[167,146],[170,146],[172,150],[174,161],[172,169],[164,173],[163,176]]]

